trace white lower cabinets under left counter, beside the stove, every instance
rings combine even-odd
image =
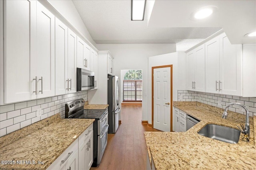
[[[47,170],[90,170],[93,162],[93,124],[91,124]]]

